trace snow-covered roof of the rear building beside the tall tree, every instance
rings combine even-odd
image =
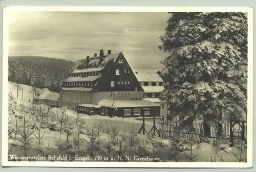
[[[133,69],[133,72],[139,82],[163,82],[157,74],[161,69]]]

